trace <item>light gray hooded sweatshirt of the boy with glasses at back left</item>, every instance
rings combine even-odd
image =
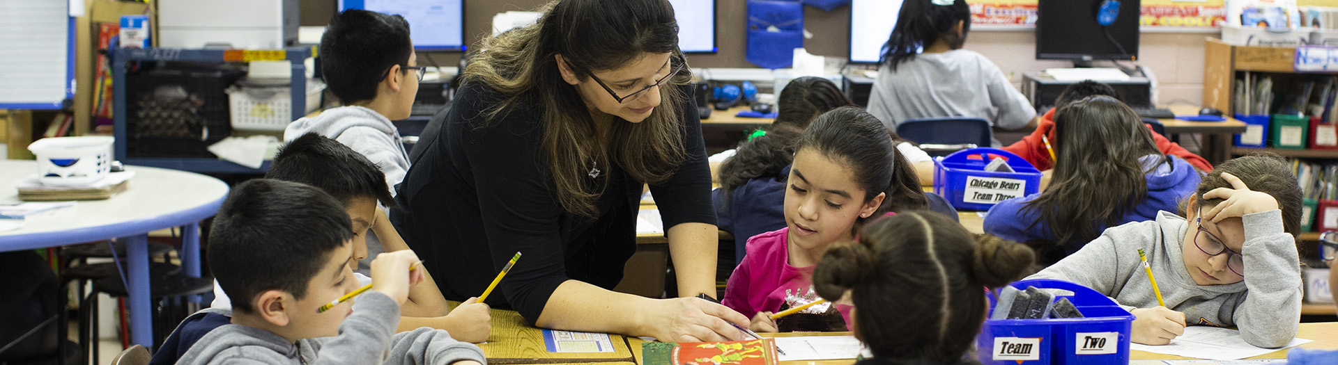
[[[395,195],[395,186],[409,170],[409,154],[404,151],[400,131],[384,115],[364,107],[337,107],[313,118],[297,119],[284,130],[284,142],[292,142],[308,132],[339,140],[381,167],[385,186]]]

